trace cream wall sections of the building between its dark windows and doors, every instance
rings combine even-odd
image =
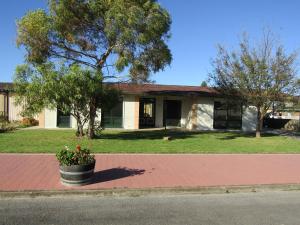
[[[163,102],[181,100],[181,127],[189,130],[213,130],[214,101],[220,99],[208,97],[156,97],[155,127],[163,127]],[[98,113],[101,118],[101,112]],[[43,118],[44,117],[44,118]],[[57,110],[45,109],[40,115],[40,126],[45,128],[57,127]],[[44,123],[41,123],[44,120]],[[125,95],[123,97],[123,128],[139,128],[139,97]],[[256,126],[256,108],[248,107],[243,110],[242,130],[254,131]],[[71,127],[76,128],[76,120],[71,117]]]

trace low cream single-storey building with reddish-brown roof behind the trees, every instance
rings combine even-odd
[[[11,84],[10,84],[11,85]],[[253,131],[256,108],[237,99],[225,99],[215,89],[200,86],[158,84],[110,84],[122,92],[120,102],[102,112],[106,128],[143,129],[181,127],[189,130],[239,129]],[[9,95],[9,93],[8,93]],[[7,96],[7,95],[6,95]],[[20,108],[9,98],[6,114],[13,120]],[[0,109],[1,111],[1,109]],[[13,111],[14,113],[11,113]],[[45,109],[39,115],[41,128],[76,127],[76,120],[59,110]]]

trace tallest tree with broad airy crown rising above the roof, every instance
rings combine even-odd
[[[64,59],[93,68],[102,81],[121,79],[118,74],[125,71],[130,80],[144,82],[171,62],[166,44],[171,19],[155,0],[49,0],[48,5],[48,11],[31,11],[18,21],[17,44],[33,65]],[[91,138],[96,111],[91,96]]]

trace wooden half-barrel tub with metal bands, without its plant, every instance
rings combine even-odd
[[[90,184],[93,179],[96,161],[87,165],[59,166],[61,183],[67,186]]]

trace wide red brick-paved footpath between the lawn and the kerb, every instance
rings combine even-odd
[[[0,191],[300,184],[300,155],[97,154],[95,179],[60,184],[49,154],[0,154]]]

